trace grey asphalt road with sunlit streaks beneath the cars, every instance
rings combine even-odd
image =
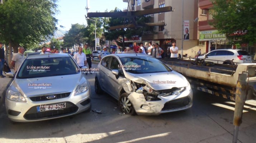
[[[96,65],[93,64],[93,68]],[[143,143],[231,143],[234,102],[194,92],[192,108],[159,116],[129,116],[120,112],[110,95],[94,91],[95,74],[88,74],[92,110],[101,111],[48,121],[12,124],[0,107],[0,142],[143,142]],[[256,102],[244,108],[238,142],[255,143]],[[223,107],[226,108],[223,108]]]

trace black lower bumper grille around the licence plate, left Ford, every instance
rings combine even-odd
[[[44,111],[44,112],[37,112],[37,106],[33,106],[25,113],[24,118],[26,120],[40,120],[40,119],[46,119],[46,118],[60,117],[60,116],[69,115],[77,112],[78,107],[73,103],[66,102],[66,105],[67,107],[64,108],[63,110],[50,110],[50,111]]]

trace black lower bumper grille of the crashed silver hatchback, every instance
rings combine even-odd
[[[179,98],[176,100],[166,102],[164,104],[162,111],[182,108],[182,107],[189,105],[189,103],[190,103],[189,97],[182,97],[182,98]]]

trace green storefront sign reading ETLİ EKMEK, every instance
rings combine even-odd
[[[219,41],[219,40],[226,40],[226,34],[222,34],[218,30],[201,31],[199,33],[199,41]]]

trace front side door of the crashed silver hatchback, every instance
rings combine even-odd
[[[123,70],[122,68],[119,68],[119,65],[121,65],[119,60],[115,57],[112,57],[110,63],[110,70],[107,73],[108,89],[110,90],[111,96],[113,96],[116,99],[119,99],[119,94],[122,89],[122,85],[119,84],[119,81],[125,78]],[[112,73],[112,70],[119,70],[118,79],[116,79],[116,75]]]

